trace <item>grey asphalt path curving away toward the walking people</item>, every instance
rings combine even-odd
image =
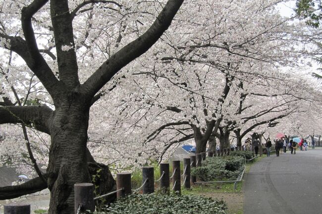
[[[253,164],[245,179],[244,214],[322,213],[322,148],[273,153]]]

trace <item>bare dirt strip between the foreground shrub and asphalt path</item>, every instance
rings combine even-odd
[[[242,214],[243,213],[243,193],[219,193],[219,192],[207,192],[200,193],[201,196],[212,197],[222,199],[227,203],[228,214]]]

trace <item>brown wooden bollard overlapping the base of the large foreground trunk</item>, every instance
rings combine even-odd
[[[74,209],[77,214],[78,207],[81,206],[80,211],[85,212],[90,210],[94,212],[94,185],[92,183],[77,183],[74,184]]]

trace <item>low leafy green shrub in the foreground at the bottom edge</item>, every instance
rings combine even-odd
[[[132,194],[119,199],[106,209],[105,214],[226,214],[222,200],[177,194]],[[103,213],[96,213],[103,214]]]

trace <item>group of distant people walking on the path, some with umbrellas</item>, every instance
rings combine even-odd
[[[282,151],[284,154],[286,154],[286,151],[289,150],[291,154],[295,155],[296,150],[300,148],[301,151],[307,151],[308,148],[308,143],[306,140],[301,139],[299,143],[293,141],[293,139],[288,139],[287,137],[282,137],[279,139],[274,140],[275,143],[275,151],[276,151],[276,156],[279,157],[280,151]],[[244,143],[244,149],[246,151],[252,151],[254,149],[255,155],[258,155],[258,150],[260,146],[260,140],[258,138],[254,139],[253,142],[251,141],[251,138],[247,138],[245,143]],[[315,142],[314,140],[312,141],[312,148],[314,149]],[[267,157],[270,156],[270,151],[272,147],[272,142],[270,138],[266,140],[266,154]]]

